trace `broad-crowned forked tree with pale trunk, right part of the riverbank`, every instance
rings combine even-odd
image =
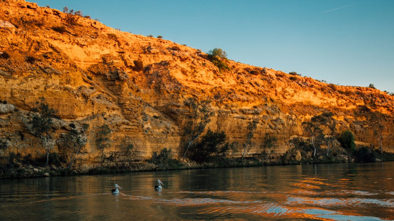
[[[328,119],[331,118],[334,114],[331,112],[325,112],[318,116],[314,116],[308,122],[302,122],[302,127],[305,132],[310,136],[310,143],[313,147],[313,156],[316,155],[316,139],[322,137],[323,129],[322,125],[325,125],[328,122]]]

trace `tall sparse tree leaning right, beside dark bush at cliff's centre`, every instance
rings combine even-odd
[[[197,102],[196,98],[189,98],[185,101],[185,104],[190,108],[190,120],[188,120],[184,127],[187,145],[183,157],[186,157],[190,145],[203,133],[206,125],[211,121],[211,116],[214,114],[210,99]]]

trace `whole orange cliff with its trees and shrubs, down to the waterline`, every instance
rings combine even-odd
[[[204,53],[70,12],[0,1],[4,177],[35,167],[85,174],[389,160],[385,152],[394,152],[394,96],[373,85],[250,66],[220,48]]]

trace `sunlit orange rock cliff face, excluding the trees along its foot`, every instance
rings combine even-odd
[[[385,92],[328,85],[234,61],[228,61],[230,71],[220,72],[200,50],[84,17],[67,26],[64,18],[34,3],[0,2],[0,52],[10,56],[0,58],[0,99],[7,101],[0,107],[0,133],[24,153],[41,151],[26,129],[39,97],[61,118],[57,136],[71,129],[69,123],[89,124],[86,162],[98,154],[93,140],[103,124],[113,131],[108,154],[125,136],[132,138],[140,159],[164,147],[181,151],[188,113],[184,101],[190,97],[213,101],[215,114],[207,128],[225,131],[230,142],[244,142],[257,110],[261,120],[249,155],[262,152],[265,133],[279,138],[275,153],[284,153],[290,138],[303,136],[301,123],[326,111],[335,114],[338,131],[349,129],[356,143],[368,146],[377,146],[370,114],[384,114],[383,149],[394,152],[394,96]],[[59,32],[61,26],[65,29]],[[138,60],[144,70],[136,70]]]

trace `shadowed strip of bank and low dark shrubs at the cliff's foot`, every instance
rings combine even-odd
[[[286,152],[279,158],[267,157],[248,157],[244,160],[240,158],[212,157],[207,162],[197,163],[195,161],[181,159],[176,160],[168,158],[165,160],[150,159],[146,162],[107,162],[106,165],[100,165],[87,171],[75,171],[63,167],[58,154],[50,154],[48,166],[44,166],[45,157],[32,159],[30,156],[21,157],[20,154],[11,153],[7,162],[2,160],[0,164],[2,173],[0,178],[21,178],[21,177],[50,177],[50,176],[70,176],[70,175],[92,175],[106,173],[129,173],[137,171],[162,171],[178,169],[204,169],[204,168],[230,168],[230,167],[251,167],[251,166],[269,166],[269,165],[292,165],[292,164],[326,164],[326,163],[348,163],[348,162],[375,162],[375,161],[394,161],[393,153],[379,153],[371,151],[367,147],[361,147],[353,153],[342,150],[335,151],[331,155],[325,155],[325,150],[318,149],[318,158],[304,158],[310,155],[300,148],[294,148]],[[344,154],[344,155],[341,155]],[[301,157],[301,158],[300,158]]]

